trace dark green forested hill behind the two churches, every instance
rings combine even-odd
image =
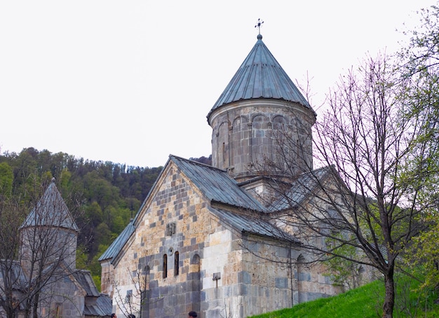
[[[210,157],[191,159],[211,163]],[[0,155],[0,200],[12,196],[32,207],[41,188],[55,178],[63,198],[74,198],[65,199],[69,209],[81,211],[76,219],[81,229],[78,244],[86,248],[84,263],[97,275],[97,258],[135,216],[162,168],[91,161],[25,148],[20,153]]]

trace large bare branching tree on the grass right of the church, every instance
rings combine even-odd
[[[316,123],[319,169],[306,160],[309,137],[299,122],[294,131],[273,134],[277,152],[264,163],[267,177],[284,176],[273,186],[273,222],[299,238],[316,261],[338,257],[381,272],[383,317],[393,314],[398,256],[421,230],[419,193],[428,177],[425,153],[417,151],[421,125],[403,113],[409,83],[397,75],[380,54],[340,77]],[[406,174],[409,167],[417,174]]]

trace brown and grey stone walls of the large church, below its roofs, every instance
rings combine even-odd
[[[297,266],[309,258],[299,247],[243,233],[218,214],[223,210],[243,213],[211,202],[171,158],[135,232],[112,262],[102,262],[102,292],[113,293],[114,311],[248,317],[337,293],[323,268]]]

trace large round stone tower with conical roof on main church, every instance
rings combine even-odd
[[[264,193],[264,177],[312,169],[316,113],[257,35],[257,42],[208,113],[212,165]]]

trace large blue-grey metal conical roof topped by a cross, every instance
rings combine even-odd
[[[282,99],[311,108],[258,34],[257,42],[210,113],[224,104],[245,99]]]

